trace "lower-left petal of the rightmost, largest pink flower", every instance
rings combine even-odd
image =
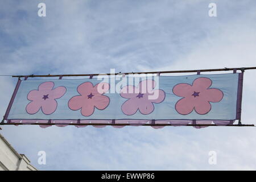
[[[176,111],[183,115],[191,113],[193,108],[194,103],[189,98],[181,98],[175,105]]]

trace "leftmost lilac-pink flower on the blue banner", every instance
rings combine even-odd
[[[57,109],[57,98],[62,97],[66,88],[64,86],[58,86],[52,89],[54,83],[52,81],[43,82],[38,86],[38,90],[31,90],[27,99],[31,102],[26,106],[28,114],[35,114],[40,109],[44,114],[52,114]]]

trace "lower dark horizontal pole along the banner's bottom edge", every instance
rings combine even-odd
[[[130,124],[130,123],[0,123],[0,125],[76,125],[76,126],[254,126],[251,125],[215,125],[215,124],[188,124],[188,125],[179,125],[179,124]]]

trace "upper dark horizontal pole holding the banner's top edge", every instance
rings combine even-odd
[[[127,72],[122,73],[125,75],[129,74],[154,74],[154,73],[192,73],[192,72],[218,72],[218,71],[233,71],[234,69],[245,71],[246,69],[256,69],[256,67],[245,67],[245,68],[220,68],[220,69],[194,69],[194,70],[181,70],[181,71],[158,71],[158,72]],[[121,72],[120,72],[121,73]],[[60,76],[99,76],[99,75],[118,75],[120,73],[102,73],[102,74],[75,74],[75,75],[14,75],[13,77],[60,77]]]

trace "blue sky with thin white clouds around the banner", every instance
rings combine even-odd
[[[38,16],[38,4],[46,16]],[[210,17],[209,3],[217,16]],[[255,67],[256,2],[0,0],[0,75]],[[191,73],[192,74],[192,73]],[[242,123],[256,124],[246,71]],[[0,115],[16,79],[0,76]],[[255,170],[255,127],[1,126],[39,170]],[[46,164],[38,152],[46,152]],[[217,163],[209,164],[216,151]]]

